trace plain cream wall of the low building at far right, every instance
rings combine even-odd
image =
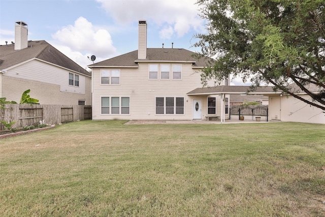
[[[310,100],[307,95],[301,97]],[[317,107],[311,106],[299,99],[291,96],[280,97],[281,100],[281,120],[293,122],[322,123],[325,124],[325,113]],[[272,98],[270,100],[270,109],[272,110]],[[272,111],[271,111],[272,112]]]

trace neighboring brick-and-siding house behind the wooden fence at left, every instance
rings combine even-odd
[[[91,105],[91,74],[46,41],[28,41],[27,24],[15,42],[0,45],[0,97],[19,103],[22,93],[40,104]]]

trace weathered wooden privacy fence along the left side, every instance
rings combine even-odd
[[[49,125],[58,125],[91,119],[91,106],[6,104],[4,107],[6,109],[0,109],[1,120],[17,121],[13,125],[16,128],[35,125],[40,120],[44,120]],[[0,130],[3,130],[2,124],[0,124]]]

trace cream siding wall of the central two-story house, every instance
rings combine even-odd
[[[172,66],[175,63],[164,64]],[[202,99],[202,118],[205,118],[207,113],[207,96],[190,97],[186,95],[187,92],[194,88],[202,87],[200,73],[195,73],[198,70],[193,70],[191,64],[184,63],[181,65],[182,79],[178,80],[172,79],[172,71],[168,80],[149,80],[149,69],[146,63],[139,63],[139,68],[121,68],[120,85],[101,85],[100,69],[93,69],[93,119],[189,120],[192,119],[193,99]],[[159,77],[160,74],[158,74]],[[102,97],[129,97],[130,114],[101,114]],[[184,98],[184,114],[155,114],[156,97]],[[217,112],[219,111],[220,108],[218,107]]]

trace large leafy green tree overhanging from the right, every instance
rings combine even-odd
[[[198,0],[207,33],[196,37],[200,54],[216,61],[207,78],[229,74],[250,79],[252,87],[273,84],[325,110],[324,0]],[[301,98],[297,89],[310,99]]]

